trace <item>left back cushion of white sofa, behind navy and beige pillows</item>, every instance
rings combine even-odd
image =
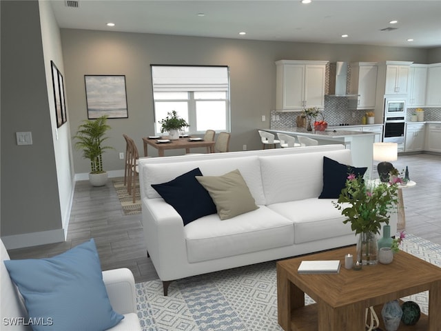
[[[257,205],[265,205],[263,194],[260,163],[257,156],[238,157],[235,159],[191,159],[186,161],[185,156],[174,157],[169,163],[146,163],[142,167],[144,194],[152,199],[161,197],[150,184],[164,183],[194,168],[201,169],[204,176],[220,176],[226,172],[238,169],[248,185]],[[176,164],[178,163],[178,164]]]

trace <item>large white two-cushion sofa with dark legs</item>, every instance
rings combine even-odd
[[[140,159],[145,243],[164,294],[176,279],[356,243],[332,203],[337,199],[318,199],[324,156],[352,163],[341,145]],[[204,176],[238,169],[259,208],[226,220],[210,214],[184,226],[151,185],[194,168]]]

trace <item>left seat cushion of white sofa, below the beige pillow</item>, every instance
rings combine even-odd
[[[189,223],[184,232],[190,263],[294,243],[292,222],[265,205],[225,221],[217,214],[208,215]]]

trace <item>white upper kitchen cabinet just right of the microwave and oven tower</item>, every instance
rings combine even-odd
[[[427,64],[412,64],[409,68],[407,107],[426,104]]]

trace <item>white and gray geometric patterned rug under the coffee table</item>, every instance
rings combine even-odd
[[[440,245],[407,234],[401,249],[441,268]],[[427,292],[402,299],[428,313]],[[136,301],[144,331],[283,331],[277,323],[276,261],[180,279],[167,297],[159,280],[137,283]],[[305,304],[311,303],[305,296]]]

